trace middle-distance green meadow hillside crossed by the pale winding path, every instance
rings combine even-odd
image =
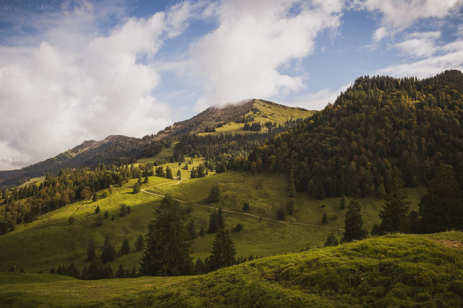
[[[200,158],[193,159],[197,166]],[[175,174],[180,167],[172,163],[169,166]],[[191,167],[190,167],[191,169]],[[184,179],[178,181],[165,178],[150,177],[150,182],[142,185],[148,192],[164,195],[170,193],[174,198],[182,201],[193,201],[195,204],[213,207],[221,206],[225,212],[226,229],[229,229],[236,245],[237,256],[270,256],[294,251],[298,248],[313,247],[326,240],[333,232],[339,239],[342,229],[325,228],[321,224],[323,213],[328,215],[328,227],[343,228],[344,211],[339,208],[339,198],[330,198],[323,201],[312,199],[307,193],[296,194],[296,210],[288,215],[284,222],[259,217],[277,219],[276,209],[280,204],[286,203],[288,198],[288,179],[282,175],[250,175],[243,171],[227,171],[223,174],[205,178],[189,179],[189,172],[182,170]],[[146,234],[146,227],[150,220],[155,218],[155,209],[159,206],[161,197],[150,193],[132,193],[136,180],[131,180],[124,187],[116,187],[113,195],[97,202],[91,200],[79,201],[69,206],[51,211],[38,217],[31,223],[21,223],[15,231],[0,236],[0,270],[6,271],[12,266],[24,267],[26,272],[48,272],[51,267],[69,265],[74,261],[75,266],[81,269],[86,263],[87,243],[93,237],[100,256],[99,248],[104,237],[110,236],[111,241],[119,250],[122,241],[127,238],[131,246],[131,253],[119,257],[111,266],[117,269],[119,264],[124,268],[138,266],[142,253],[134,250],[134,242],[139,234]],[[206,201],[210,187],[218,185],[221,190],[220,201],[210,204]],[[424,193],[422,187],[408,189],[411,200],[411,209],[416,209],[418,200]],[[101,197],[102,191],[99,192]],[[244,200],[250,203],[250,216],[241,213]],[[382,200],[376,198],[358,199],[363,205],[365,226],[370,229],[373,223],[379,222],[377,213],[382,206]],[[119,216],[121,204],[131,207],[128,216]],[[325,207],[321,207],[325,204]],[[101,213],[108,211],[109,218],[102,226],[97,225],[94,209],[100,206]],[[209,216],[212,209],[196,205],[194,211],[188,214],[194,219],[196,232],[201,226],[208,229]],[[73,215],[77,221],[72,225],[68,223],[69,216]],[[115,219],[110,218],[114,215]],[[244,225],[244,230],[235,232],[237,223]],[[304,224],[297,224],[304,223]],[[313,224],[314,226],[305,225]],[[193,246],[193,255],[204,260],[209,255],[214,239],[213,234],[206,234],[202,239],[196,239]]]

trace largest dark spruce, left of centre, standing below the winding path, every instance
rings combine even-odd
[[[140,272],[150,276],[190,274],[194,265],[190,257],[192,241],[185,232],[185,210],[166,194],[156,215],[156,220],[148,225]]]

